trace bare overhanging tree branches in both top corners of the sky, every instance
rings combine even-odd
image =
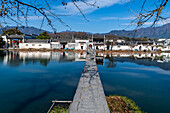
[[[87,20],[86,16],[81,10],[81,6],[78,5],[78,2],[82,2],[86,5],[90,5],[92,7],[96,6],[97,0],[94,0],[94,3],[91,4],[89,2],[90,0],[71,0],[73,5],[79,10],[79,12],[82,14],[82,16]],[[161,16],[162,11],[164,7],[167,5],[168,0],[155,0],[155,8],[151,10],[147,10],[145,8],[147,2],[151,2],[151,0],[130,0],[129,4],[134,1],[141,1],[141,7],[140,11],[137,12],[137,18],[134,20],[137,23],[138,27],[141,27],[145,22],[153,19],[153,25],[158,22],[160,19],[166,19]],[[3,23],[7,23],[5,18],[9,18],[12,21],[16,22],[17,25],[22,25],[23,22],[21,21],[20,17],[23,17],[25,19],[25,23],[27,24],[28,16],[31,13],[31,16],[42,16],[42,23],[40,28],[43,26],[44,21],[46,20],[48,22],[48,25],[52,27],[54,31],[56,29],[53,27],[53,23],[57,20],[61,22],[64,26],[69,27],[64,21],[62,21],[61,16],[66,15],[58,15],[56,12],[57,9],[51,7],[51,5],[54,4],[61,4],[63,7],[67,8],[69,0],[1,0],[1,10],[0,10],[0,17],[4,18]],[[140,4],[138,4],[140,5]],[[136,7],[136,6],[135,6]],[[17,17],[17,19],[14,19],[13,17]],[[2,22],[1,22],[2,24]],[[0,25],[1,26],[1,25]]]

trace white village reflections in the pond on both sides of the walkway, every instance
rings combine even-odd
[[[106,59],[106,62],[104,60]],[[1,51],[0,61],[4,65],[17,67],[21,64],[34,64],[47,66],[50,61],[73,62],[85,61],[86,52],[11,52]],[[133,62],[146,66],[157,66],[165,70],[170,70],[170,53],[111,53],[96,54],[96,63],[114,68],[115,62]]]

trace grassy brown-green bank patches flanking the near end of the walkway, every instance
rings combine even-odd
[[[146,113],[136,103],[125,96],[106,97],[110,113]],[[67,113],[69,104],[55,105],[50,113]]]

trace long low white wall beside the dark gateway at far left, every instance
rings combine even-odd
[[[51,49],[50,43],[20,43],[19,49]]]

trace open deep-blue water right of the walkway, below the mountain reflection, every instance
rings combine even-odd
[[[115,68],[98,66],[106,95],[128,96],[148,113],[169,112],[170,71],[133,62],[114,63]]]

